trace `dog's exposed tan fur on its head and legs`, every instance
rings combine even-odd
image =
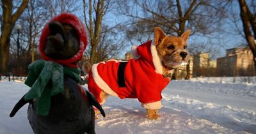
[[[157,54],[160,57],[160,60],[163,64],[163,74],[173,73],[173,70],[168,70],[167,67],[177,68],[178,66],[172,66],[168,63],[180,63],[182,61],[188,62],[189,54],[186,50],[187,41],[189,37],[190,31],[186,31],[182,36],[166,36],[163,30],[160,27],[155,28],[154,34],[154,44],[157,48]],[[174,48],[170,48],[170,45],[173,45]],[[180,53],[186,52],[188,54],[186,57],[181,57]],[[106,101],[108,94],[102,91],[100,93],[100,100],[102,100],[103,104]],[[158,119],[158,109],[146,109],[146,117],[148,119]]]

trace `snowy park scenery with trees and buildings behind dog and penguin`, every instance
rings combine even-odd
[[[87,27],[84,71],[129,59],[132,45],[152,40],[156,26],[176,36],[192,31],[191,60],[164,89],[161,118],[146,119],[138,100],[110,97],[96,133],[256,133],[256,1],[1,0],[0,6],[0,133],[33,133],[28,105],[9,114],[29,91],[24,80],[28,65],[41,58],[42,28],[63,12]]]

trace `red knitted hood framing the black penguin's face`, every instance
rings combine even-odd
[[[46,54],[44,52],[44,48],[45,48],[45,44],[47,42],[47,36],[49,36],[49,34],[50,34],[49,22],[51,22],[51,21],[58,21],[61,24],[70,24],[76,29],[76,31],[79,35],[79,51],[77,52],[76,55],[74,55],[70,59],[52,59],[51,57],[46,56]],[[81,60],[81,58],[83,57],[84,49],[86,48],[86,46],[88,44],[88,36],[86,33],[86,27],[84,26],[83,22],[81,22],[81,20],[79,20],[76,17],[76,15],[73,15],[71,13],[61,13],[60,15],[52,18],[49,22],[47,24],[45,24],[45,27],[42,31],[42,34],[40,36],[40,41],[39,41],[39,50],[42,55],[42,58],[45,59],[46,61],[54,61],[56,63],[63,64],[65,66],[77,68],[77,65],[75,63],[76,63],[76,61]]]

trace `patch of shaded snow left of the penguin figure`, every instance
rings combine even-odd
[[[0,133],[1,134],[32,134],[27,119],[28,105],[20,108],[14,117],[9,114],[20,98],[28,91],[28,86],[19,82],[0,82]]]

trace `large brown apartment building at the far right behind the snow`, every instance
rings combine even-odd
[[[250,48],[231,48],[226,56],[217,59],[218,77],[255,76],[253,54]]]

